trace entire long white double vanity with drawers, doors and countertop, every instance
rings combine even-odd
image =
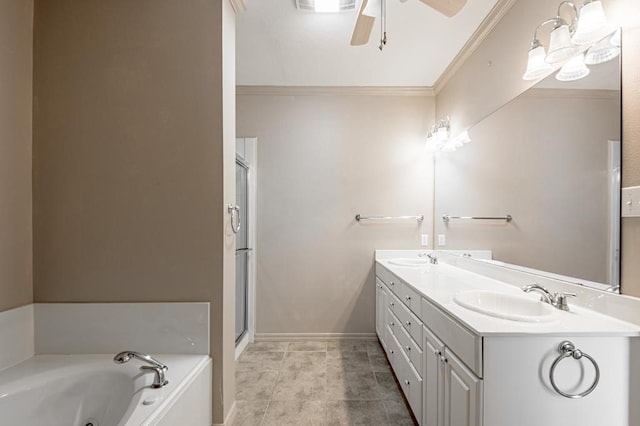
[[[407,252],[376,256],[376,329],[422,425],[431,424],[434,413],[465,426],[638,424],[632,402],[640,321],[623,320],[633,320],[628,312],[640,310],[638,300],[457,254],[431,254],[438,264],[420,267],[389,262],[410,257]],[[569,311],[545,305],[554,318],[543,322],[497,318],[455,301],[475,290],[542,304],[539,294],[522,291],[534,282],[578,297],[569,300]],[[627,311],[604,315],[615,301]],[[560,351],[567,340],[582,351],[576,358]],[[561,392],[586,395],[570,399]]]

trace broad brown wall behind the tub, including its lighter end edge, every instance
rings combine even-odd
[[[35,300],[211,302],[215,423],[234,399],[233,19],[226,1],[38,0],[34,21]]]

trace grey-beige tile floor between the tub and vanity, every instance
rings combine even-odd
[[[259,342],[236,363],[233,426],[414,426],[377,341]]]

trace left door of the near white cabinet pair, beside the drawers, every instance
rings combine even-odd
[[[442,426],[444,423],[444,344],[429,331],[422,328],[423,335],[423,388],[422,425]]]

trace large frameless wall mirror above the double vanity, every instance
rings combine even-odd
[[[489,249],[494,261],[618,285],[620,58],[589,69],[577,81],[550,75],[471,127],[470,143],[436,153],[444,248]]]

